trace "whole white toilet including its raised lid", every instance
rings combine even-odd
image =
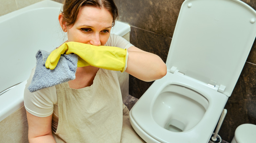
[[[256,36],[256,11],[240,0],[185,0],[166,60],[130,111],[147,143],[208,143]]]

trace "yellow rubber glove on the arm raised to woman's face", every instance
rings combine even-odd
[[[76,54],[79,56],[78,67],[94,66],[113,71],[125,71],[128,53],[127,49],[111,46],[94,46],[79,42],[67,42],[48,56],[45,67],[53,70],[61,54]]]

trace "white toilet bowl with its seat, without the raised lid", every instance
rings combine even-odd
[[[131,109],[130,122],[147,143],[206,143],[227,99],[207,84],[167,72]]]

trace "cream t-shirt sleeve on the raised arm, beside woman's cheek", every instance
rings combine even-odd
[[[128,49],[131,46],[133,46],[133,44],[131,44],[129,41],[127,41],[126,39],[124,39],[119,35],[110,34],[110,37],[106,43],[106,46],[113,46],[113,47]]]

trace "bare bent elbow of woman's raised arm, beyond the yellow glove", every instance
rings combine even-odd
[[[166,65],[162,59],[152,53],[132,46],[128,48],[127,73],[143,81],[154,81],[166,75]]]

